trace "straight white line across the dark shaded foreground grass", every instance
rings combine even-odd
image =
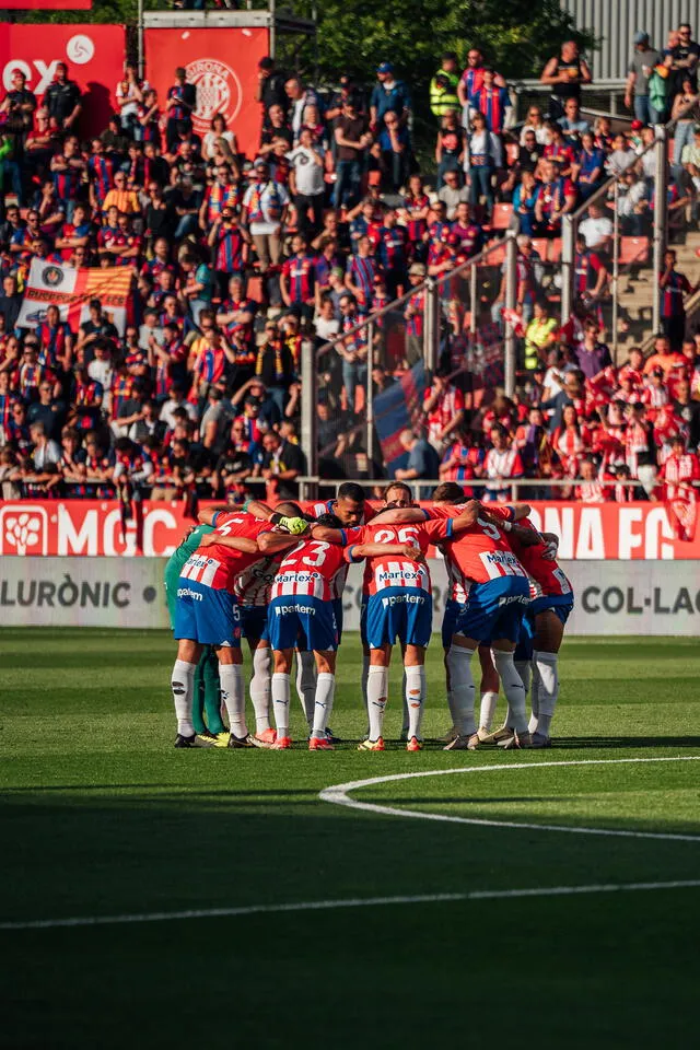
[[[583,894],[629,894],[639,890],[692,889],[700,878],[669,883],[600,883],[592,886],[535,886],[527,889],[474,889],[465,894],[417,894],[404,897],[351,897],[348,900],[301,900],[290,905],[250,905],[247,908],[202,908],[190,911],[152,911],[127,915],[85,915],[72,919],[33,919],[0,922],[0,930],[55,930],[65,926],[113,926],[135,922],[179,919],[222,919],[236,915],[280,914],[294,911],[330,911],[336,908],[376,908],[386,905],[440,905],[466,900],[509,900],[517,897],[572,897]]]

